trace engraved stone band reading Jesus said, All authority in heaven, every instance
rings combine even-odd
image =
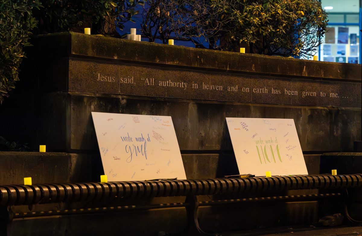
[[[285,79],[73,58],[69,67],[70,91],[361,108],[361,82]],[[82,70],[84,67],[88,70]]]

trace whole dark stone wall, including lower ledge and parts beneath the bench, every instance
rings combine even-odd
[[[0,135],[33,150],[45,144],[47,152],[55,153],[1,153],[1,184],[21,184],[25,174],[33,183],[98,181],[102,166],[91,112],[171,116],[190,179],[238,174],[225,117],[294,119],[309,174],[319,173],[321,153],[352,151],[353,141],[361,139],[361,65],[77,33],[38,36],[32,44],[16,93],[0,106]],[[236,230],[312,223],[323,214],[317,201],[265,204],[202,207],[200,224],[206,231]],[[113,227],[118,220],[117,226],[134,226],[136,234],[155,235],[160,230],[180,232],[186,227],[184,217],[184,209],[164,209],[105,218],[19,219],[9,231],[26,235],[25,227],[44,235],[100,235],[118,232]],[[134,219],[148,223],[140,227]],[[46,227],[37,227],[44,222]],[[79,225],[85,222],[105,227],[82,231]]]

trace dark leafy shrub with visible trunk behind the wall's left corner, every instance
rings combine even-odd
[[[94,34],[116,36],[115,28],[133,21],[134,7],[142,0],[40,0],[43,8],[34,10],[39,21],[38,34],[76,31],[92,27]]]

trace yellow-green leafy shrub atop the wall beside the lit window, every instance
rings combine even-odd
[[[247,43],[260,54],[313,56],[328,22],[317,0],[243,0],[217,7],[227,21],[225,47]]]

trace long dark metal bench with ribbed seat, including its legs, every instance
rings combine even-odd
[[[205,235],[198,224],[198,206],[232,204],[247,201],[303,201],[342,196],[344,189],[361,188],[362,174],[353,175],[295,175],[238,178],[238,179],[189,179],[165,181],[134,181],[108,183],[65,183],[34,185],[0,185],[0,235],[7,235],[7,225],[15,218],[51,215],[106,213],[123,210],[146,210],[165,207],[185,207],[188,217],[188,233]],[[280,193],[298,189],[338,189],[337,192],[314,195],[270,196],[239,198],[246,193]],[[234,199],[199,202],[198,195],[233,195]],[[104,203],[124,199],[186,196],[185,202],[104,206]],[[93,202],[100,207],[13,213],[11,206],[50,204],[55,202]]]

